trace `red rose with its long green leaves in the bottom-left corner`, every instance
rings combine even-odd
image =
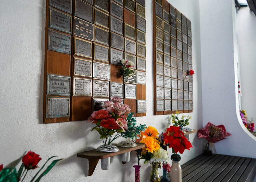
[[[39,161],[42,159],[41,157],[39,157],[40,155],[36,154],[35,152],[29,151],[26,155],[24,155],[22,157],[22,164],[18,170],[18,173],[16,171],[16,168],[3,168],[3,164],[0,165],[0,181],[4,181],[4,182],[17,182],[20,181],[22,179],[22,182],[24,181],[27,173],[29,170],[34,170],[36,168],[39,168],[37,166],[37,164],[39,163]],[[44,168],[44,166],[46,165],[46,163],[52,159],[53,157],[57,157],[57,156],[52,156],[50,157],[42,166],[42,168],[34,175],[34,177],[31,179],[30,182],[39,182],[41,180],[41,178],[43,176],[45,176],[52,168],[53,166],[60,160],[62,159],[57,159],[57,160],[53,160],[51,162],[51,164],[44,170],[44,172],[42,172],[41,175],[39,175],[39,177],[36,179],[37,175],[39,174],[39,172]],[[24,169],[25,168],[25,169]],[[26,172],[26,173],[25,173]],[[24,175],[25,173],[25,175]]]

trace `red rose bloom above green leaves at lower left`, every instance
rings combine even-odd
[[[38,162],[41,160],[38,154],[35,152],[29,151],[26,155],[23,156],[22,162],[27,170],[37,168]]]

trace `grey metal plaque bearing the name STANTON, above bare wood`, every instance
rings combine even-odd
[[[49,30],[48,49],[56,52],[71,54],[71,36]]]

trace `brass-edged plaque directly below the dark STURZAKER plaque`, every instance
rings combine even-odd
[[[74,37],[74,54],[92,58],[92,42]]]

